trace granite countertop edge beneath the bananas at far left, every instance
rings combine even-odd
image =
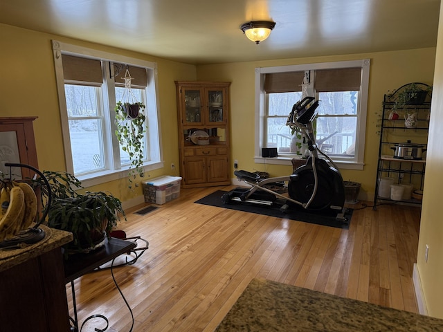
[[[44,230],[45,237],[37,243],[30,244],[24,248],[0,250],[0,272],[17,266],[28,259],[42,255],[45,252],[60,248],[73,239],[71,232],[48,228],[45,225],[39,225],[39,228]]]

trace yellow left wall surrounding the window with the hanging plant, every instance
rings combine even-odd
[[[164,169],[148,172],[145,178],[172,174],[170,165],[179,165],[177,107],[174,80],[195,80],[196,69],[190,64],[129,52],[119,48],[101,46],[67,39],[60,36],[37,33],[31,30],[0,24],[0,116],[38,116],[34,122],[39,169],[65,170],[62,127],[58,107],[53,51],[51,39],[89,47],[138,59],[156,62],[159,77],[159,107],[163,137]],[[109,190],[122,201],[141,196],[141,187],[134,192],[127,187],[127,178],[112,181],[89,190]]]

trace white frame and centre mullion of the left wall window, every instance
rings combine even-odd
[[[111,78],[111,71],[113,66],[108,66],[108,62],[125,63],[134,66],[140,66],[147,69],[147,86],[145,88],[146,110],[150,114],[147,116],[149,123],[147,124],[146,135],[148,136],[148,149],[150,149],[150,156],[148,161],[143,163],[145,172],[149,172],[153,169],[163,168],[163,149],[161,145],[161,126],[159,115],[159,97],[158,97],[158,79],[157,79],[157,65],[155,62],[147,62],[145,60],[136,59],[132,57],[126,57],[124,55],[117,55],[114,53],[108,53],[100,50],[93,50],[91,48],[84,48],[82,46],[76,46],[72,44],[66,44],[52,41],[53,44],[53,57],[55,65],[55,75],[57,81],[57,91],[59,95],[59,107],[60,107],[60,119],[62,123],[62,136],[64,141],[64,157],[66,161],[66,171],[73,174],[73,161],[71,153],[71,138],[69,135],[69,122],[68,113],[66,109],[66,96],[64,91],[64,75],[62,66],[62,54],[74,55],[78,57],[87,57],[90,59],[98,59],[102,61],[102,111],[107,113],[109,110],[109,116],[104,114],[104,140],[107,141],[104,149],[105,156],[108,156],[107,160],[104,160],[105,169],[98,169],[97,172],[89,172],[88,174],[82,174],[77,176],[84,187],[90,187],[91,185],[99,185],[101,183],[118,180],[120,178],[127,177],[127,170],[129,165],[120,165],[120,152],[119,143],[114,131],[116,130],[116,124],[114,118],[112,118],[112,112],[116,105],[115,97],[115,85],[114,78]],[[112,73],[113,74],[113,73]],[[70,82],[68,82],[70,83]]]

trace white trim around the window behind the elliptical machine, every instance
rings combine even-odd
[[[361,94],[359,98],[359,125],[356,128],[356,137],[359,138],[359,144],[355,149],[356,158],[352,161],[336,160],[336,164],[342,169],[363,169],[365,153],[365,131],[366,117],[368,113],[368,90],[369,90],[369,69],[370,59],[341,61],[341,62],[322,62],[318,64],[297,64],[291,66],[275,66],[255,68],[255,163],[267,163],[275,165],[291,165],[292,156],[278,156],[275,158],[263,158],[262,147],[264,142],[264,116],[266,114],[266,103],[264,93],[264,76],[268,73],[284,73],[287,71],[307,71],[316,69],[332,68],[350,68],[361,67]],[[300,82],[301,84],[301,82]],[[288,110],[288,115],[289,115]],[[335,161],[335,160],[334,160]]]

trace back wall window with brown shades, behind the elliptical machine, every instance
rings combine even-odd
[[[266,163],[289,165],[307,154],[299,133],[286,126],[293,104],[307,95],[320,100],[317,144],[342,168],[362,169],[370,60],[257,68],[255,161],[264,162],[262,147],[276,147],[278,158]]]

